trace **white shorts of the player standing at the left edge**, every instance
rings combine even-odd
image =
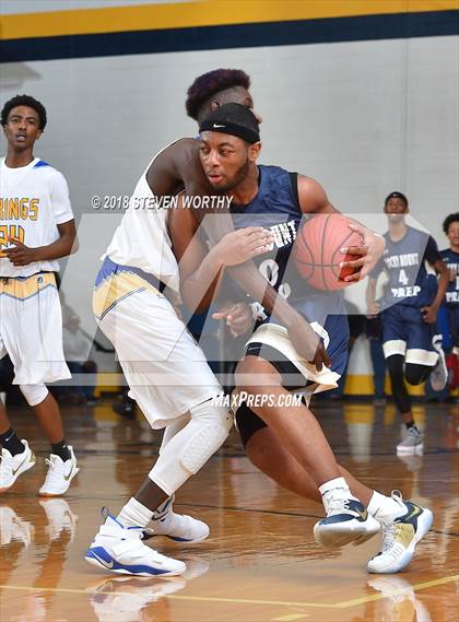
[[[15,385],[71,377],[62,351],[62,313],[52,272],[0,277],[0,359],[10,355]]]

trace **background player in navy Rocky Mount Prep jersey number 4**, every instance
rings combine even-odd
[[[391,192],[385,201],[385,212],[389,231],[385,235],[385,254],[368,282],[368,314],[381,312],[382,348],[393,400],[407,429],[397,453],[422,454],[423,435],[414,423],[404,380],[420,385],[431,376],[435,390],[446,385],[445,355],[436,319],[448,287],[448,271],[435,239],[407,225],[409,207],[404,195]],[[375,302],[376,281],[384,270],[389,284],[379,305]]]

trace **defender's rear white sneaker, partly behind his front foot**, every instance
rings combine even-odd
[[[155,510],[152,527],[143,530],[143,539],[165,536],[174,542],[187,544],[196,544],[205,540],[210,533],[209,525],[186,514],[175,514],[174,498],[174,495],[170,496]]]

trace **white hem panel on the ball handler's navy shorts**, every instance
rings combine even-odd
[[[291,361],[301,374],[310,383],[304,390],[295,390],[294,392],[305,392],[307,395],[319,394],[338,387],[340,374],[332,372],[329,367],[323,366],[318,372],[316,366],[308,363],[295,350],[289,337],[289,331],[283,326],[276,324],[262,324],[257,328],[246,345],[249,343],[264,343],[281,352],[289,361]]]

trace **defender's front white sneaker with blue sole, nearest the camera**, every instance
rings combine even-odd
[[[111,573],[138,576],[174,576],[186,571],[184,562],[162,555],[142,542],[141,527],[123,527],[106,516],[84,559]]]

